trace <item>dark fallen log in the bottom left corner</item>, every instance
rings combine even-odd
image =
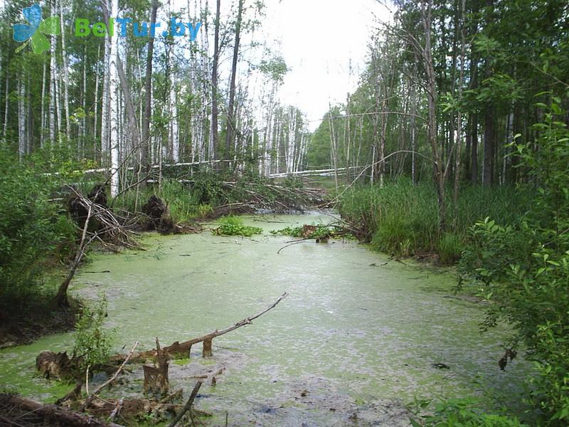
[[[0,420],[8,426],[73,426],[73,427],[121,427],[115,423],[105,423],[84,413],[78,413],[62,406],[44,405],[21,396],[0,395],[0,408],[10,408],[9,413],[17,416],[12,421],[9,414],[0,414]],[[29,417],[32,419],[26,419]],[[0,423],[0,425],[2,425]]]

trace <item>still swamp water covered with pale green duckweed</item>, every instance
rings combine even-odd
[[[189,361],[171,362],[171,389],[184,387],[186,397],[196,376],[223,368],[195,402],[213,413],[211,425],[225,425],[228,413],[230,426],[408,426],[405,404],[415,398],[519,393],[527,365],[516,359],[499,371],[503,335],[479,334],[482,307],[452,295],[453,274],[355,241],[303,241],[277,253],[295,239],[268,233],[330,220],[247,217],[265,231],[252,238],[145,236],[146,251],[91,255],[72,292],[106,293],[107,325],[124,353],[137,340],[144,350],[154,337],[169,345],[221,330],[288,292],[252,325],[214,339],[213,358],[202,359],[197,344]],[[35,358],[72,347],[68,333],[1,351],[0,386],[63,396],[70,386],[34,376]],[[142,369],[115,391],[139,396]]]

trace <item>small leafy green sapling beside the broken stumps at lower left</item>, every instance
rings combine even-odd
[[[80,357],[80,370],[107,362],[111,352],[111,334],[103,323],[107,317],[107,297],[103,293],[92,308],[83,307],[75,324],[73,354]]]

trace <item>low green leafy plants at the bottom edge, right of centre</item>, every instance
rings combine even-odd
[[[435,406],[432,415],[411,420],[413,427],[528,427],[517,418],[490,415],[472,399],[449,399]]]

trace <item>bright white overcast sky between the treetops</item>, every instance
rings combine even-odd
[[[328,102],[344,102],[358,83],[376,27],[388,12],[376,0],[265,0],[263,33],[280,45],[292,70],[281,100],[296,105],[307,120],[320,120]],[[350,72],[351,67],[351,72]],[[310,130],[319,122],[309,123]]]

